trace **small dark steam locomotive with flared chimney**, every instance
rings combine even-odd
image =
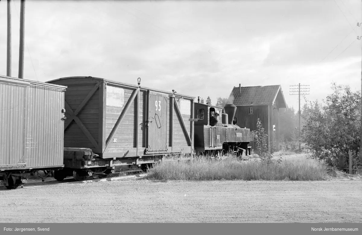
[[[197,154],[222,155],[227,152],[249,155],[250,129],[237,126],[236,106],[224,108],[195,103],[194,148]],[[215,124],[216,123],[216,124]],[[249,154],[247,153],[249,150]]]

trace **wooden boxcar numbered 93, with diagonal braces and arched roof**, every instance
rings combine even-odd
[[[194,97],[94,77],[49,83],[68,87],[64,147],[89,148],[99,155],[65,153],[64,177],[72,170],[81,180],[109,174],[114,166],[144,167],[158,161],[155,157],[191,152]]]

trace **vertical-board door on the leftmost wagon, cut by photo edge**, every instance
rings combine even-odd
[[[0,83],[0,165],[23,157],[25,86]]]

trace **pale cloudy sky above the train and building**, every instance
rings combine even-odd
[[[361,0],[26,0],[24,78],[103,77],[206,100],[234,86],[332,81],[361,89]],[[20,1],[12,0],[12,76],[18,76]],[[7,1],[0,1],[0,74],[6,75]],[[196,98],[197,102],[197,98]],[[304,101],[302,101],[302,104]]]

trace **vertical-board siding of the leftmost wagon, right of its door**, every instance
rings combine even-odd
[[[63,165],[64,91],[31,86],[26,94],[25,162],[27,166]]]

